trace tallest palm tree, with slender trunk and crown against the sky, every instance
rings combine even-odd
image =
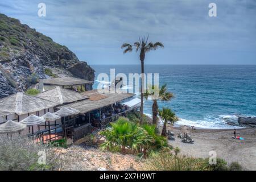
[[[149,42],[148,43],[148,36],[147,39],[145,39],[144,37],[141,39],[139,38],[139,42],[135,42],[133,44],[133,46],[131,44],[123,44],[121,46],[121,48],[125,48],[125,51],[123,51],[123,53],[127,53],[127,52],[131,52],[133,51],[133,49],[136,49],[136,52],[138,52],[138,50],[140,50],[139,53],[139,59],[141,60],[141,118],[140,118],[140,124],[142,125],[143,123],[143,97],[144,97],[144,59],[145,59],[145,53],[155,50],[158,47],[164,47],[162,43],[160,42],[156,42],[156,43],[152,43]]]

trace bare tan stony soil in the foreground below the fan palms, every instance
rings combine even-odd
[[[56,149],[63,160],[60,170],[143,170],[143,163],[134,155],[122,155],[118,153],[100,151],[97,148],[84,148],[72,146]],[[100,169],[101,168],[101,169]]]

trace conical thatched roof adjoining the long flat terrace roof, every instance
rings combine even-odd
[[[88,98],[87,96],[78,92],[60,88],[60,86],[56,86],[55,88],[39,93],[38,97],[55,102],[58,105]]]

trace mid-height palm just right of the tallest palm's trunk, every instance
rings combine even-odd
[[[147,89],[147,92],[144,94],[144,97],[146,99],[148,99],[148,97],[151,96],[151,99],[153,100],[153,105],[152,105],[152,124],[156,125],[156,123],[158,121],[158,102],[157,102],[157,100],[160,100],[160,101],[170,101],[171,98],[174,97],[174,94],[172,94],[171,92],[168,92],[167,84],[164,84],[160,88],[160,90],[159,90],[159,88],[156,88],[155,85],[152,85],[151,92],[149,92],[150,89],[151,88]]]

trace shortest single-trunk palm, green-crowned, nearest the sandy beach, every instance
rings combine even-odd
[[[166,137],[166,124],[168,121],[171,123],[174,123],[176,121],[175,113],[171,109],[163,108],[162,110],[159,110],[159,116],[164,120],[163,130],[162,130],[162,136]]]

